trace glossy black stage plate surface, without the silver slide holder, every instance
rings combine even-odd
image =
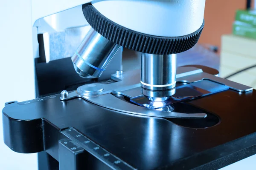
[[[45,150],[59,161],[60,170],[109,169],[84,148],[74,144],[76,149],[71,150],[59,142],[68,140],[60,133],[68,127],[143,170],[218,169],[256,154],[256,90],[229,89],[186,102],[218,116],[219,123],[208,128],[183,127],[172,120],[124,114],[81,98],[60,101],[59,97],[7,105],[3,109],[5,144],[19,153]]]

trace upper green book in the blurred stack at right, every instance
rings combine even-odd
[[[256,26],[256,10],[237,10],[236,20]]]

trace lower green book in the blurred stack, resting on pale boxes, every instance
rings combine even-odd
[[[256,27],[241,21],[235,21],[233,23],[233,35],[256,39]]]

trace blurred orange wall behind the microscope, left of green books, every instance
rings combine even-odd
[[[199,43],[221,46],[221,35],[232,32],[236,9],[245,9],[246,0],[206,0],[205,26]]]

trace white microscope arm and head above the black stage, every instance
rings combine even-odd
[[[105,17],[128,29],[155,36],[182,36],[203,23],[205,0],[14,0],[4,1],[1,15],[2,84],[5,101],[35,98],[35,64],[39,57],[37,35],[88,25],[81,5],[93,6]],[[94,3],[95,2],[95,3]],[[12,68],[10,69],[10,64]],[[7,72],[7,71],[6,71]]]

